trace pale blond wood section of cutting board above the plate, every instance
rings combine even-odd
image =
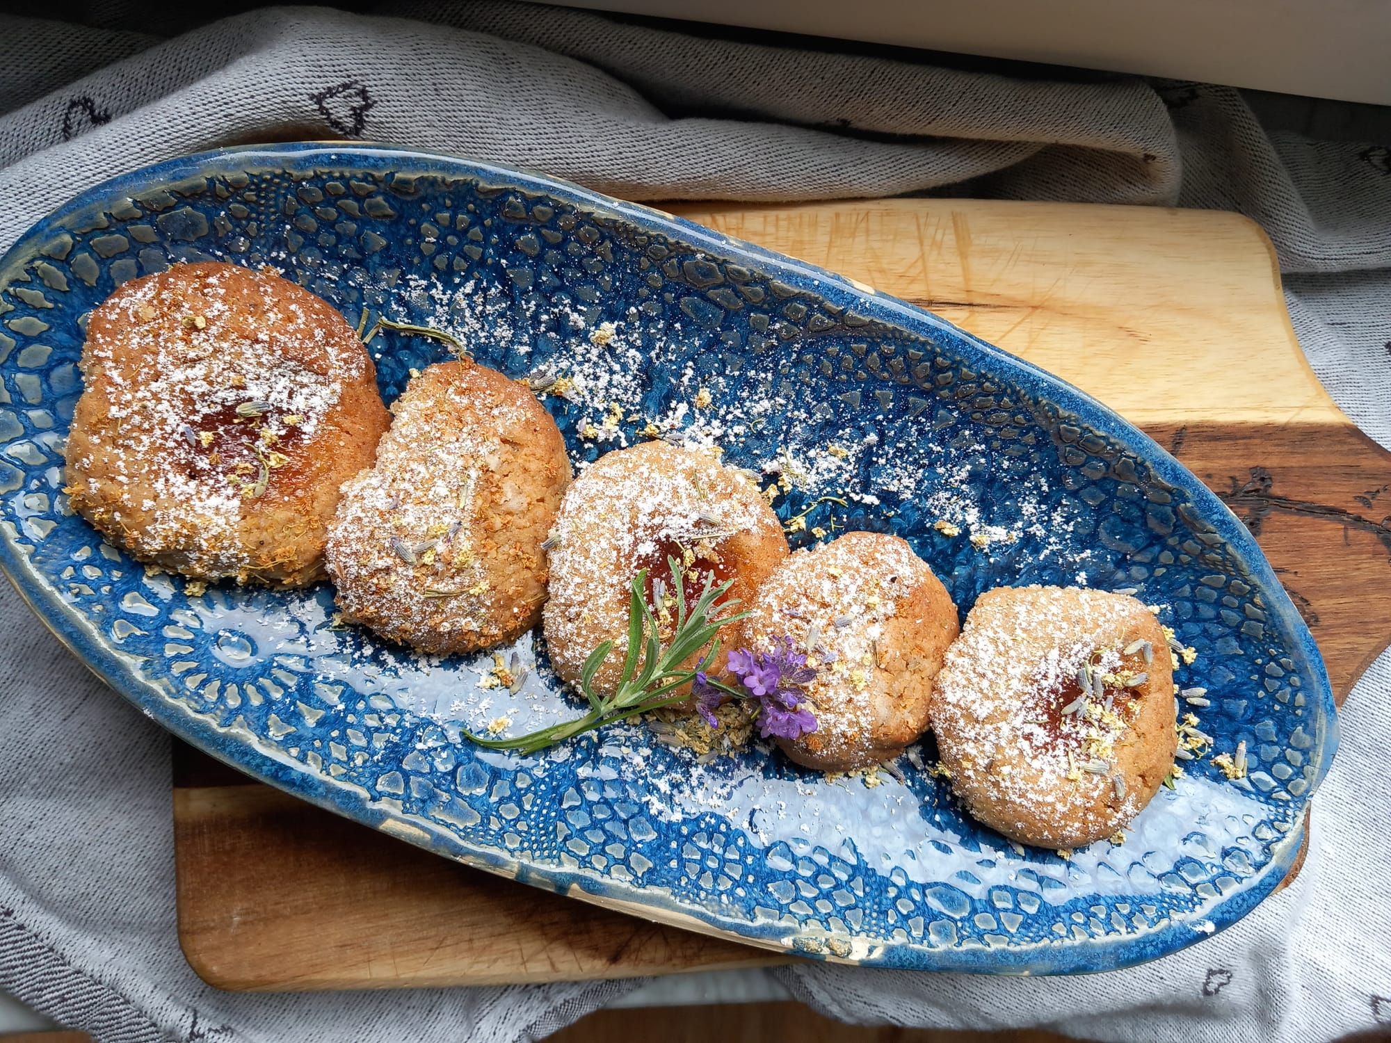
[[[904,199],[677,213],[926,307],[1139,427],[1346,423],[1294,338],[1270,241],[1238,214]]]

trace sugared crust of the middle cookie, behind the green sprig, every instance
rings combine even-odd
[[[590,464],[566,492],[554,537],[544,617],[551,663],[562,680],[577,684],[590,652],[612,641],[594,677],[598,693],[618,686],[640,569],[665,572],[668,553],[690,551],[689,574],[733,580],[727,597],[744,608],[787,556],[782,523],[750,477],[722,466],[714,452],[659,441]],[[687,599],[694,601],[690,591]],[[719,638],[725,651],[741,644],[740,623],[722,627]]]

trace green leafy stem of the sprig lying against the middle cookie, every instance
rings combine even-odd
[[[463,737],[488,750],[516,750],[522,754],[534,754],[584,731],[593,731],[605,725],[684,701],[687,698],[684,693],[675,693],[686,684],[705,677],[705,670],[719,655],[719,638],[715,634],[726,623],[743,619],[748,613],[715,616],[715,602],[729,591],[733,580],[712,587],[709,577],[705,580],[700,598],[687,608],[680,563],[675,558],[668,559],[668,562],[676,588],[676,629],[664,647],[658,637],[657,619],[652,616],[652,609],[644,595],[647,569],[643,569],[633,577],[627,611],[627,655],[623,659],[618,688],[612,695],[600,695],[594,691],[594,676],[608,659],[609,652],[613,651],[613,642],[604,641],[590,652],[590,658],[584,661],[580,670],[580,693],[590,704],[590,712],[583,718],[515,738],[483,738],[470,731],[463,731]],[[737,601],[726,601],[719,608],[730,609],[737,604]],[[709,648],[701,655],[696,668],[687,669],[687,661],[707,645]],[[641,666],[638,666],[640,661]]]

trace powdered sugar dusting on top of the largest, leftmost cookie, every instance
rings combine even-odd
[[[274,495],[275,471],[314,438],[344,381],[367,371],[341,318],[305,298],[232,266],[177,267],[117,291],[93,316],[82,359],[114,435],[93,432],[93,452],[70,460],[79,501],[114,483],[124,506],[111,522],[138,526],[145,552],[241,577],[243,508]]]

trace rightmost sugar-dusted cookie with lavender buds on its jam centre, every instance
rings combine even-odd
[[[1084,665],[1093,676],[1085,695]],[[932,727],[956,793],[1008,839],[1074,848],[1109,837],[1174,763],[1163,627],[1121,594],[986,591],[947,651]]]

